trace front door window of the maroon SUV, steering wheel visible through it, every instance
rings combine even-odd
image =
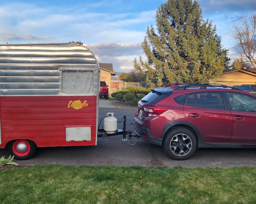
[[[256,98],[241,93],[227,92],[227,97],[233,111],[256,112]]]

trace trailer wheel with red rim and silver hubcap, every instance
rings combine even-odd
[[[8,144],[8,152],[17,160],[30,159],[36,148],[36,144],[31,140],[13,140]]]

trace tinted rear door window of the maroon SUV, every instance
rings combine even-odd
[[[195,94],[189,94],[187,99],[187,105],[198,108],[218,110],[225,109],[223,98],[220,92],[200,92]]]

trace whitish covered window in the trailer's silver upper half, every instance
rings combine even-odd
[[[62,71],[62,93],[91,94],[93,79],[92,71]]]

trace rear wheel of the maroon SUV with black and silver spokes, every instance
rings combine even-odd
[[[165,135],[163,148],[170,158],[185,160],[194,154],[197,149],[197,140],[190,130],[176,128]]]

